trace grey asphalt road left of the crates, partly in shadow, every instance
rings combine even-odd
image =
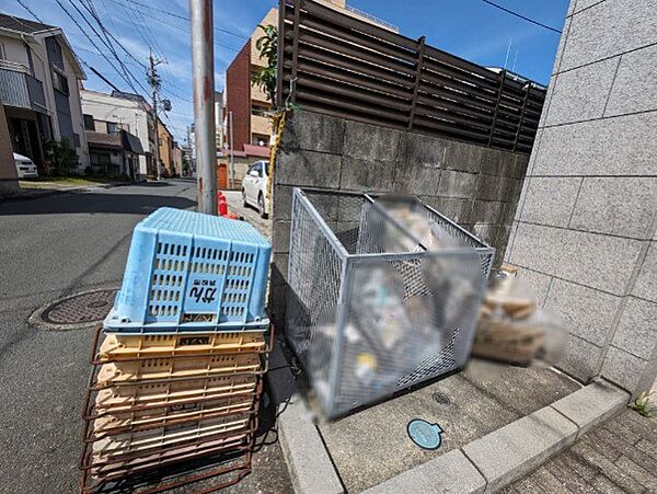
[[[74,492],[79,478],[93,330],[34,329],[28,317],[67,295],[118,287],[135,225],[160,206],[195,208],[195,182],[170,181],[0,203],[0,492]],[[254,457],[265,471],[238,491],[289,489],[272,448]]]

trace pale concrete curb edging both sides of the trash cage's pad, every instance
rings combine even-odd
[[[519,418],[461,449],[448,451],[366,491],[489,493],[503,489],[591,427],[623,410],[630,394],[596,379],[551,405]],[[343,493],[344,487],[316,427],[295,397],[281,411],[279,437],[297,494]]]

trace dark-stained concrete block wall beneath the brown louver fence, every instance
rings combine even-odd
[[[503,253],[528,161],[526,154],[296,111],[274,179],[274,320],[280,324],[285,313],[295,186],[417,195]]]

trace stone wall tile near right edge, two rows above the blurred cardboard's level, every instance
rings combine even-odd
[[[657,204],[655,177],[585,177],[569,227],[645,239]]]

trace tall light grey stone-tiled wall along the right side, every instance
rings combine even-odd
[[[657,374],[657,3],[572,0],[506,261],[570,330],[561,368]]]

